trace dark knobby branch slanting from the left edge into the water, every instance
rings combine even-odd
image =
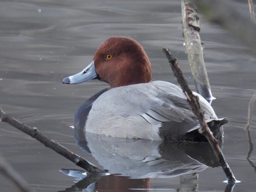
[[[100,170],[98,167],[94,166],[93,164],[86,161],[84,158],[76,155],[66,147],[58,144],[57,142],[51,140],[49,137],[44,135],[40,132],[36,127],[31,128],[28,125],[25,125],[18,120],[14,119],[10,115],[6,114],[0,108],[0,121],[6,122],[13,127],[23,131],[24,133],[30,135],[31,137],[35,138],[37,141],[44,144],[46,147],[51,148],[55,152],[59,153],[63,157],[66,157],[68,160],[75,163],[77,166],[82,167],[83,169],[87,170],[88,172],[92,173],[103,173],[104,171]]]

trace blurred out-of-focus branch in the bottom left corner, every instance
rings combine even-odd
[[[11,167],[11,165],[0,154],[0,172],[9,178],[21,192],[33,192],[29,184]]]

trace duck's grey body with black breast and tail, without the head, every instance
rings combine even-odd
[[[200,107],[216,139],[226,118],[218,119],[199,94]],[[77,110],[75,128],[112,137],[167,141],[206,141],[182,89],[164,81],[104,89]],[[81,118],[83,120],[81,120]]]

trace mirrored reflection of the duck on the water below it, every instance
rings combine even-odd
[[[74,129],[77,145],[91,154],[112,175],[90,174],[82,170],[62,172],[79,180],[72,188],[97,191],[149,189],[150,178],[170,178],[190,174],[195,188],[197,172],[219,167],[211,146],[205,142],[163,142],[114,138]],[[222,146],[221,146],[222,147]],[[184,180],[185,181],[185,180]],[[186,182],[183,186],[187,187]],[[67,189],[67,191],[69,191]]]

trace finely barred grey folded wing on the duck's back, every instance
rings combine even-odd
[[[141,116],[152,125],[194,121],[195,115],[189,110],[186,96],[182,98],[166,93],[151,84],[138,85],[108,90],[94,102],[92,110],[107,109],[122,117]]]

